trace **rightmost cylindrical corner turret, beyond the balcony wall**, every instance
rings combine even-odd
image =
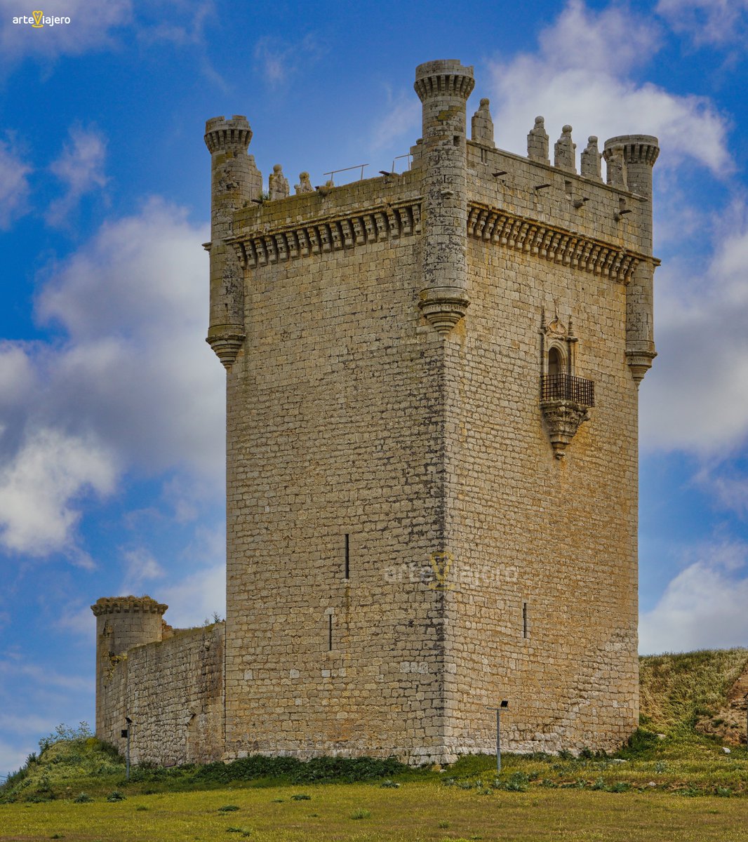
[[[606,162],[622,156],[625,186],[632,193],[649,200],[639,230],[643,251],[649,254],[652,252],[652,168],[659,154],[657,138],[651,135],[612,137],[605,141],[603,151]],[[640,261],[626,289],[626,358],[637,385],[657,356],[653,312],[654,274],[655,265],[651,261]]]

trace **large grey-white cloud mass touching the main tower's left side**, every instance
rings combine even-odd
[[[194,500],[222,493],[224,374],[204,342],[207,237],[184,210],[152,200],[43,276],[37,316],[61,338],[0,346],[9,550],[72,552],[84,498],[111,493],[120,472],[179,477]]]

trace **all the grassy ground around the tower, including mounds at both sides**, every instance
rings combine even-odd
[[[254,757],[136,768],[85,733],[41,741],[0,787],[0,839],[748,839],[748,751],[724,708],[748,652],[642,659],[642,722],[612,757],[468,756],[445,769],[394,760]],[[723,750],[731,740],[729,754]]]

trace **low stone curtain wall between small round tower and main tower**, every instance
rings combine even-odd
[[[99,676],[112,702],[99,738],[125,752],[130,717],[131,762],[171,766],[208,763],[223,754],[225,624],[176,630],[131,648]]]

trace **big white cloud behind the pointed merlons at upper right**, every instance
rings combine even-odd
[[[570,0],[542,31],[537,54],[490,65],[497,146],[524,154],[527,131],[542,114],[552,157],[561,126],[571,123],[580,148],[590,135],[602,144],[606,137],[651,134],[660,138],[660,168],[690,158],[713,173],[729,170],[726,120],[708,99],[635,80],[642,56],[659,45],[652,19],[617,6],[596,13]]]

